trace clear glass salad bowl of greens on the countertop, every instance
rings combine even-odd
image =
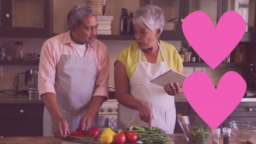
[[[179,125],[190,143],[207,143],[211,139],[212,128],[210,128],[199,116],[177,116]],[[200,133],[198,131],[201,131]]]

